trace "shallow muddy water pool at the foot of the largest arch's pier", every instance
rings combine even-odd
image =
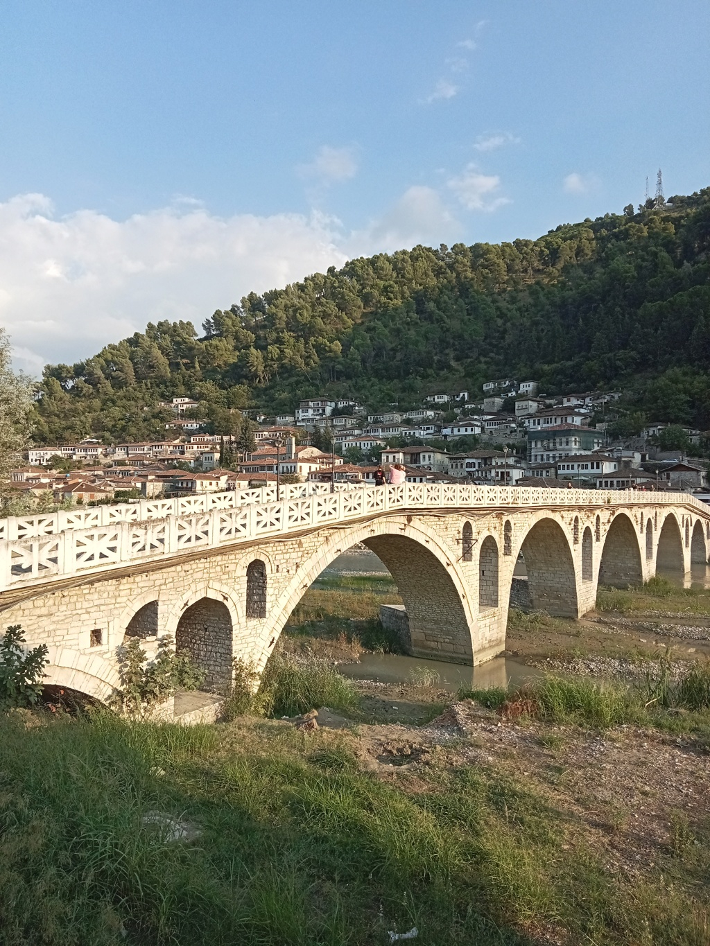
[[[344,676],[358,680],[377,680],[379,683],[424,683],[453,692],[461,687],[518,686],[525,680],[543,675],[534,667],[526,667],[509,657],[495,657],[477,667],[444,663],[443,660],[424,660],[421,657],[398,657],[395,654],[364,653],[359,663],[338,667]]]

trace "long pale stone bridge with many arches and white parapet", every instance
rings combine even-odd
[[[46,683],[107,698],[116,649],[171,635],[220,692],[262,670],[293,607],[356,542],[406,605],[412,653],[505,648],[516,562],[529,602],[578,618],[599,583],[704,565],[710,509],[687,494],[403,483],[303,484],[0,520],[0,621],[49,645]]]

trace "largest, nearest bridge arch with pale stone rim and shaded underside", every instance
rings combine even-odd
[[[397,584],[407,609],[413,654],[472,664],[477,651],[477,602],[472,600],[471,580],[467,582],[460,569],[475,569],[475,563],[459,562],[460,549],[448,548],[432,527],[382,518],[327,534],[318,551],[300,563],[264,622],[257,669],[265,665],[293,608],[318,575],[358,542],[375,552]]]

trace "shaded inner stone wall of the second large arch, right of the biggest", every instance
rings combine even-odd
[[[530,606],[558,618],[577,618],[577,574],[570,539],[556,519],[541,517],[520,547]]]

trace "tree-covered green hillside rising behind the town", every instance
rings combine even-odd
[[[650,202],[650,201],[649,201]],[[710,427],[710,187],[661,209],[562,224],[536,240],[417,246],[250,293],[191,323],[148,324],[44,370],[35,440],[166,433],[186,394],[214,432],[234,409],[301,397],[372,408],[513,374],[547,394],[622,386],[649,419]]]

